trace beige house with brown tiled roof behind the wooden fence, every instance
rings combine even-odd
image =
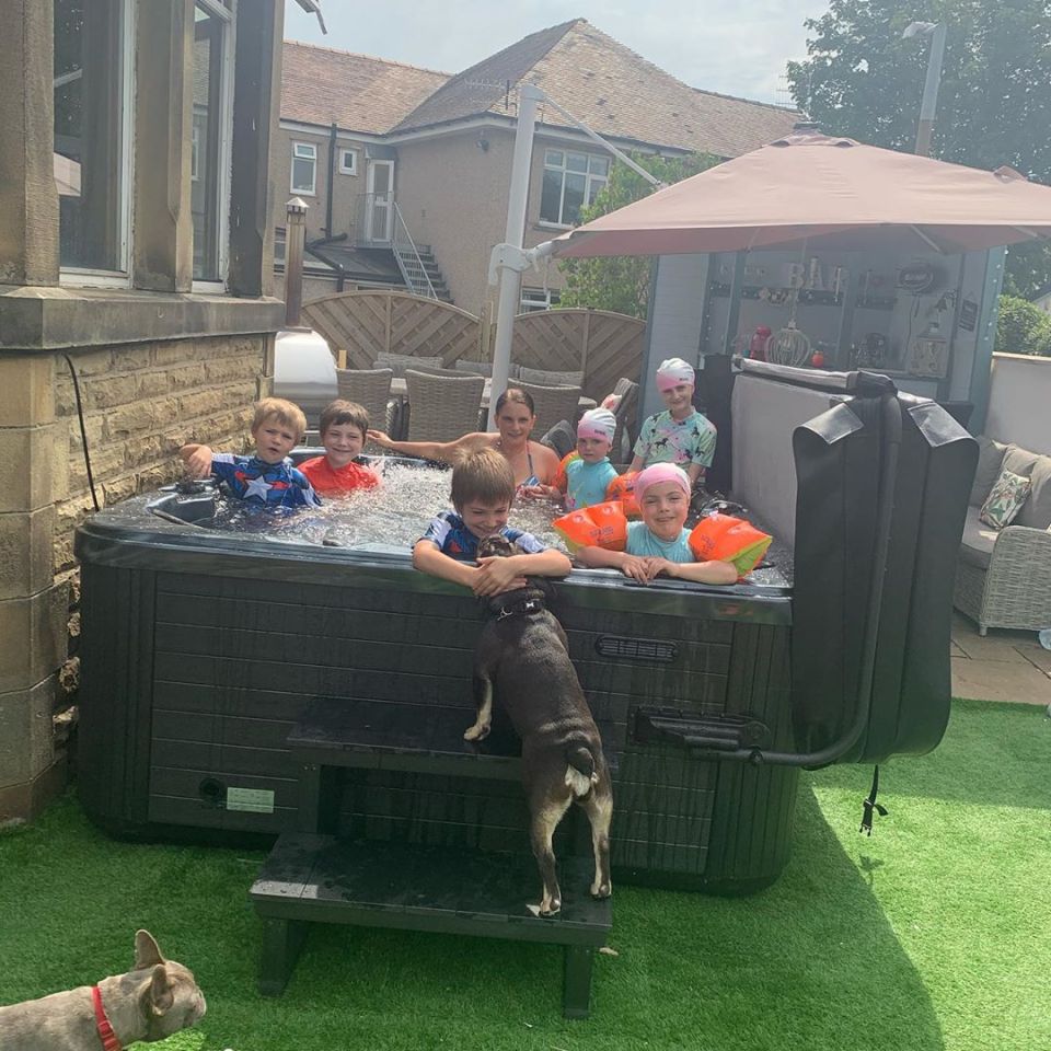
[[[490,298],[492,246],[504,240],[518,84],[546,92],[622,150],[732,158],[787,132],[793,111],[700,91],[576,19],[533,33],[457,76],[286,42],[279,192],[310,206],[304,298],[402,285],[401,235],[432,253],[432,277],[458,307]],[[551,107],[533,150],[527,246],[576,221],[604,185],[611,155]],[[337,269],[342,265],[342,282]],[[542,307],[541,275],[523,303]],[[562,279],[551,266],[547,287]]]

